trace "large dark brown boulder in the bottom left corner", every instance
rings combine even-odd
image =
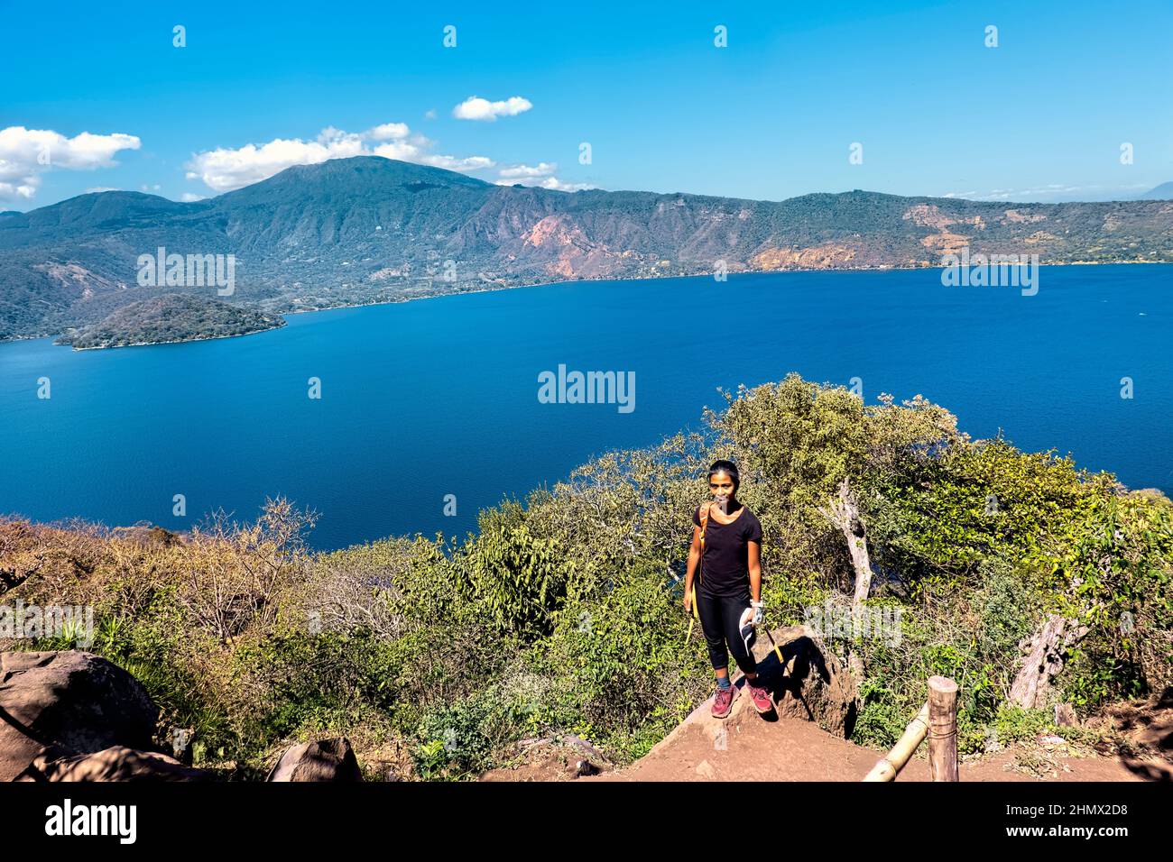
[[[0,781],[53,748],[150,748],[158,710],[142,685],[89,652],[0,653]]]

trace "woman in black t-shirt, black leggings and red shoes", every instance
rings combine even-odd
[[[737,498],[740,484],[737,464],[716,461],[708,468],[708,490],[713,501],[703,503],[692,515],[692,549],[684,577],[684,611],[692,612],[693,577],[700,564],[699,589],[696,591],[700,627],[708,643],[708,660],[717,673],[717,694],[713,715],[725,718],[737,697],[730,683],[728,656],[733,654],[745,674],[750,697],[759,713],[774,708],[758,679],[758,663],[750,647],[753,626],[762,622],[761,603],[761,522]],[[707,507],[708,521],[704,530],[704,559],[701,559],[700,518]],[[752,619],[751,619],[752,618]],[[727,646],[727,649],[726,649]]]

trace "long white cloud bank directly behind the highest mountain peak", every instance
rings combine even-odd
[[[202,179],[216,192],[232,191],[278,174],[294,164],[318,164],[331,158],[382,156],[457,171],[493,168],[486,156],[446,156],[432,151],[433,142],[413,134],[406,123],[382,123],[366,131],[326,127],[314,141],[274,138],[264,144],[219,148],[192,155],[188,179]]]

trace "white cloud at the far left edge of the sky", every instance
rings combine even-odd
[[[54,168],[96,170],[113,168],[118,150],[137,150],[142,142],[134,135],[94,135],[83,131],[74,137],[49,129],[9,125],[0,129],[0,197],[32,199],[41,175]]]

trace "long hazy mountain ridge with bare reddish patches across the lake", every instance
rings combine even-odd
[[[940,265],[1173,262],[1173,203],[1005,204],[853,190],[753,201],[495,185],[378,156],[294,165],[198,202],[91,192],[0,217],[0,338],[57,334],[174,287],[140,254],[235,254],[265,313],[568,279]]]

